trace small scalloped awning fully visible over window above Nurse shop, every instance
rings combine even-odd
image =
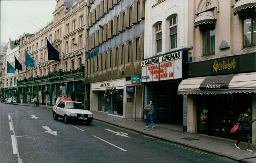
[[[197,26],[203,25],[203,24],[214,24],[215,25],[216,19],[214,18],[214,11],[205,11],[200,13],[196,19],[194,26],[197,28]]]

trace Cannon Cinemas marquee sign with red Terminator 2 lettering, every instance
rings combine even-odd
[[[182,51],[141,61],[141,82],[182,78]]]

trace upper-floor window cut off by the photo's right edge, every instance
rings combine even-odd
[[[243,46],[249,47],[249,46],[255,46],[256,42],[256,28],[255,28],[255,15],[252,18],[244,19],[243,22]]]

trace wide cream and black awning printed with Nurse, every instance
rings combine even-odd
[[[178,94],[255,93],[255,78],[255,72],[188,78],[180,82]]]

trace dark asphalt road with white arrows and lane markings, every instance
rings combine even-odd
[[[47,108],[0,105],[0,162],[234,162],[93,120],[65,124]]]

